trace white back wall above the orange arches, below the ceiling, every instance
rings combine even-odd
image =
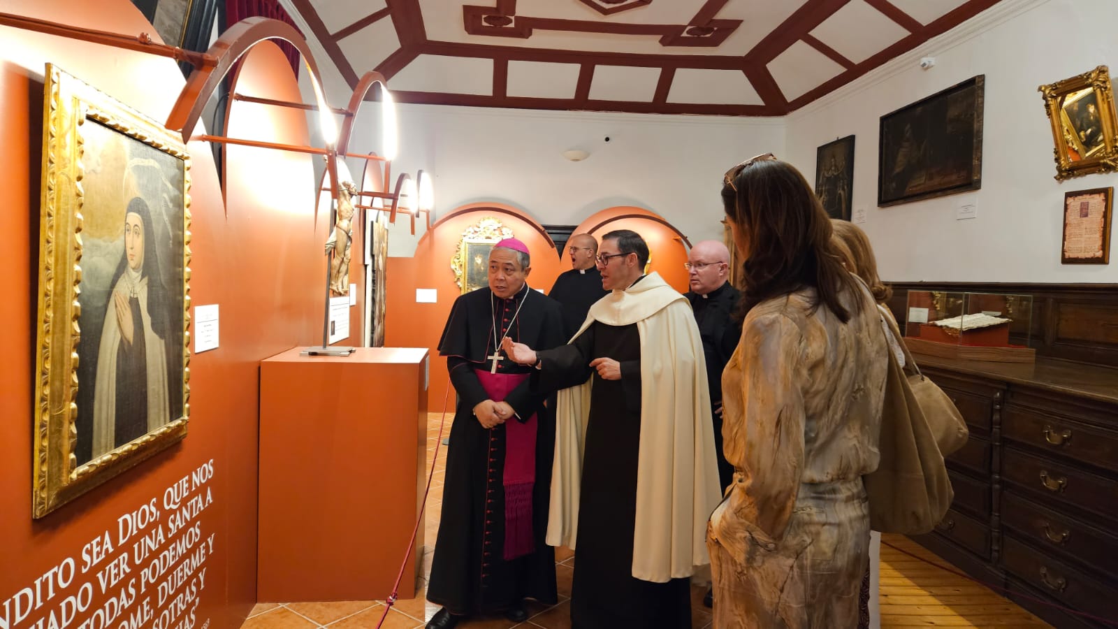
[[[434,172],[436,217],[499,201],[540,223],[577,225],[606,207],[632,205],[662,215],[691,242],[722,236],[726,169],[742,156],[783,152],[785,138],[783,121],[773,119],[437,105],[399,105],[398,113],[402,144],[392,168]],[[362,107],[354,148],[378,150],[377,115],[377,107]],[[561,154],[568,149],[590,157],[568,161]],[[411,255],[421,234],[410,236],[398,219],[389,255]]]

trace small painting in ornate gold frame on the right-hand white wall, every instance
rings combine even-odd
[[[1107,66],[1038,90],[1052,124],[1057,180],[1118,170],[1118,118]]]

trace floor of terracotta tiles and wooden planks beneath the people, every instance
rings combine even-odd
[[[427,426],[427,464],[435,456],[440,415],[432,413]],[[447,417],[446,432],[449,432]],[[446,447],[439,447],[435,476],[427,498],[426,536],[420,591],[415,599],[399,600],[388,609],[385,601],[334,601],[311,603],[259,603],[241,625],[241,629],[372,629],[383,617],[385,629],[424,627],[438,605],[426,602],[427,575],[443,510],[443,473]],[[913,560],[900,551],[942,563],[916,543],[900,536],[885,536],[882,545],[881,619],[882,628],[894,627],[1048,627],[1020,607],[991,590],[956,576],[926,562]],[[559,604],[529,602],[530,618],[517,625],[501,616],[474,618],[462,622],[464,629],[569,629],[570,582],[575,556],[567,548],[556,550],[556,575],[559,582]],[[702,605],[704,586],[692,586],[692,627],[710,627],[710,610]],[[946,598],[945,598],[946,597]],[[955,599],[958,599],[957,601]],[[965,599],[965,600],[964,600]],[[958,604],[956,604],[958,603]],[[963,605],[961,608],[959,605]],[[965,609],[964,609],[965,608]],[[387,611],[387,616],[386,616]]]

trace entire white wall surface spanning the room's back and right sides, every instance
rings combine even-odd
[[[773,151],[814,180],[816,148],[853,133],[854,208],[866,209],[862,227],[884,278],[1118,282],[1118,262],[1060,263],[1064,193],[1114,186],[1118,176],[1053,179],[1051,128],[1036,91],[1100,64],[1118,73],[1116,21],[1116,0],[1002,0],[783,119],[400,105],[404,145],[394,168],[435,173],[436,217],[466,203],[501,201],[541,223],[577,224],[608,206],[635,205],[695,242],[721,237],[718,189],[729,166]],[[936,57],[936,66],[920,69],[923,56]],[[330,101],[345,103],[344,83],[331,76],[337,71],[323,71]],[[880,116],[977,74],[986,76],[982,189],[878,208]],[[354,149],[377,150],[376,113],[362,109]],[[591,154],[568,162],[560,153],[571,148]],[[956,220],[961,203],[977,204],[978,217]],[[398,220],[390,255],[411,255],[421,233],[413,237],[408,222]]]

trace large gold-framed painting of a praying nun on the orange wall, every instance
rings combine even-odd
[[[48,64],[32,514],[170,447],[189,419],[190,157]]]

